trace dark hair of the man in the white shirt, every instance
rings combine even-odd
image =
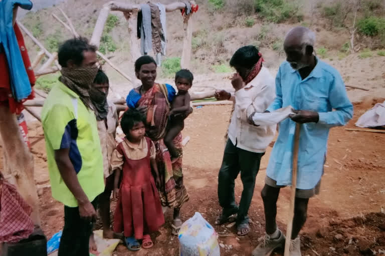
[[[259,50],[254,45],[247,45],[239,48],[230,59],[233,67],[252,68],[259,60]]]

